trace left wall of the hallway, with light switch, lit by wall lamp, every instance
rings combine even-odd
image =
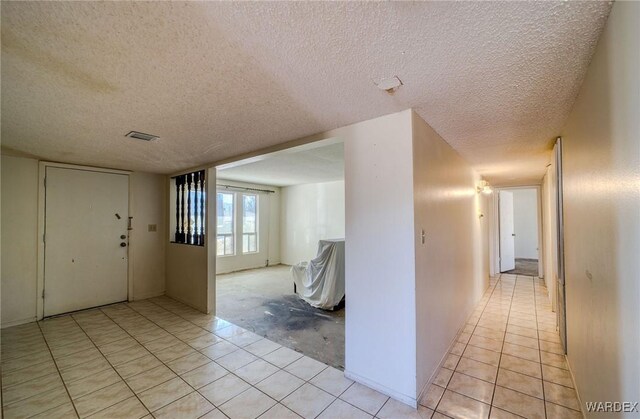
[[[478,175],[415,113],[413,167],[420,394],[488,286],[488,218]]]

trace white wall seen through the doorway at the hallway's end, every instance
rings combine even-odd
[[[538,192],[512,189],[516,258],[538,259]]]

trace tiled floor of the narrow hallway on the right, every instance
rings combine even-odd
[[[544,281],[491,279],[421,403],[434,418],[581,418],[555,318]]]

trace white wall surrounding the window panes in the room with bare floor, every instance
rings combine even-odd
[[[280,188],[269,185],[258,185],[253,183],[235,182],[231,180],[219,179],[218,183],[225,185],[239,186],[243,188],[263,189],[274,191],[274,193],[255,193],[258,196],[258,252],[242,253],[242,236],[237,230],[236,254],[230,256],[218,256],[216,263],[216,273],[239,271],[242,269],[260,268],[280,263]],[[235,189],[219,189],[222,192],[236,193],[240,197],[242,191]],[[247,192],[254,193],[254,192]],[[239,225],[242,215],[242,202],[236,199],[235,219]]]

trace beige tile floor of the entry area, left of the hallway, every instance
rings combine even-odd
[[[385,418],[394,409],[404,407],[340,370],[167,297],[2,330],[7,419]]]

